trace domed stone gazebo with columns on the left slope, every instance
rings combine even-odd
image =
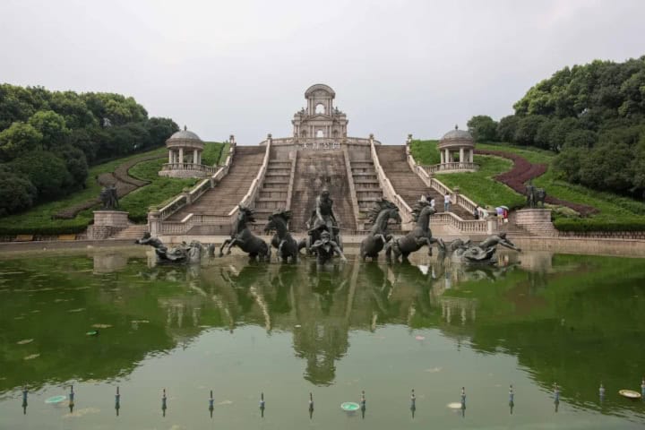
[[[217,167],[202,165],[203,146],[202,139],[184,126],[184,130],[174,133],[166,141],[168,163],[164,164],[159,176],[206,177],[213,174]]]

